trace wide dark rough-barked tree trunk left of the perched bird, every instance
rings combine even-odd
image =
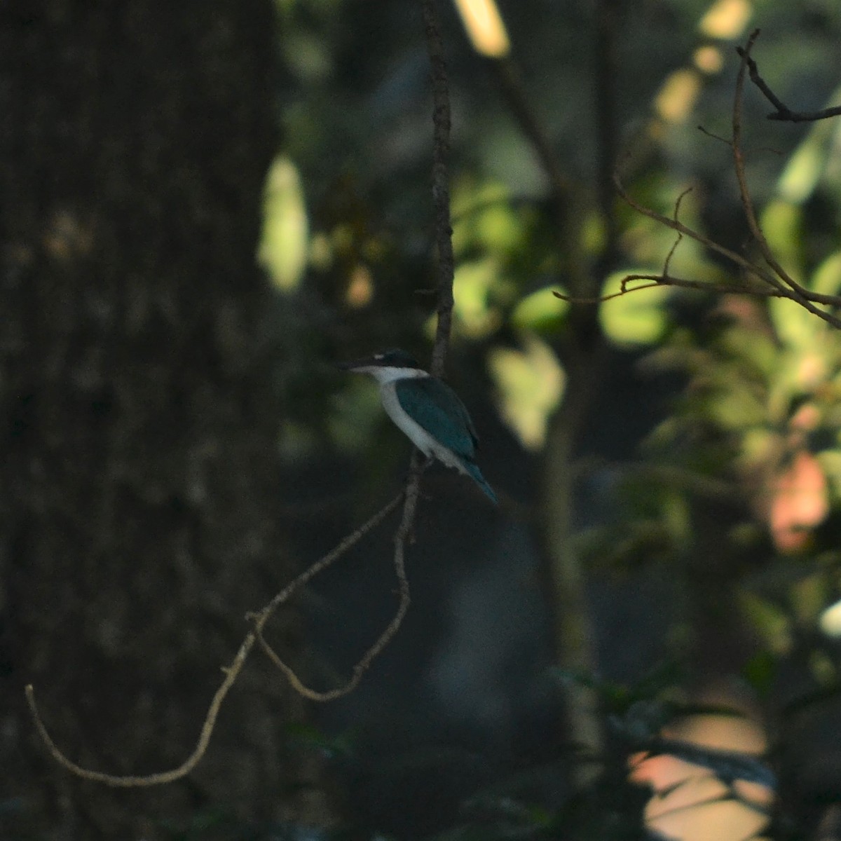
[[[254,262],[273,27],[270,0],[0,4],[0,808],[37,837],[312,817],[284,795],[299,701],[259,656],[156,789],[59,769],[23,696],[84,766],[180,764],[290,574]]]

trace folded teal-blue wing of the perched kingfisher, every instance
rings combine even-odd
[[[468,410],[442,380],[435,377],[394,383],[399,404],[437,441],[464,458],[473,459],[478,439]]]

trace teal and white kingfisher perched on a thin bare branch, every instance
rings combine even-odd
[[[392,348],[340,368],[370,374],[379,384],[383,409],[429,461],[469,476],[498,505],[494,489],[476,463],[479,438],[458,394],[433,377],[409,353]]]

